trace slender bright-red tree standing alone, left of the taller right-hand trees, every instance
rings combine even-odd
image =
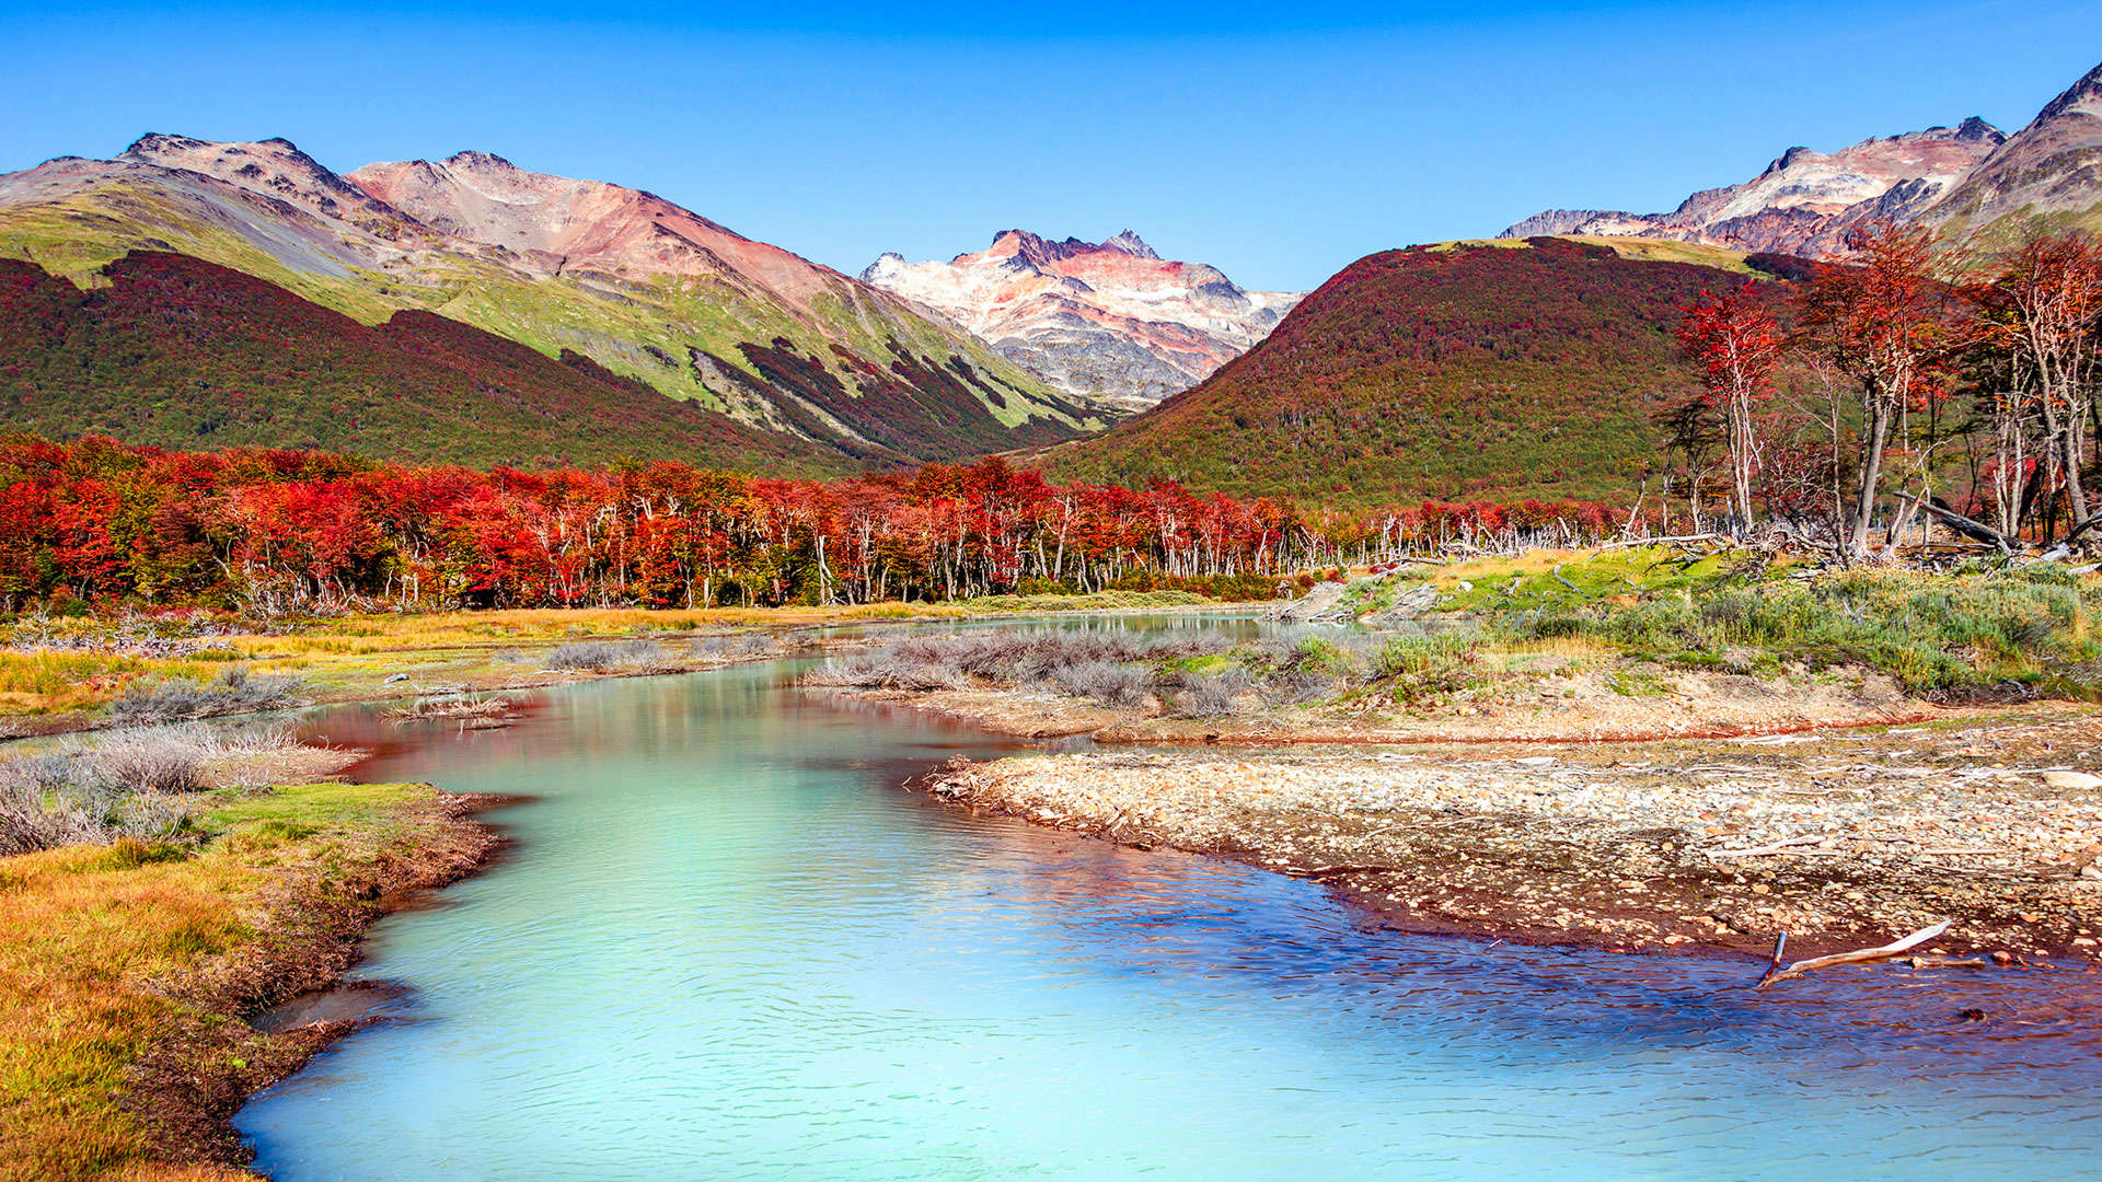
[[[1745,284],[1686,305],[1679,345],[1701,364],[1705,402],[1724,423],[1730,452],[1730,509],[1736,534],[1751,526],[1751,480],[1759,469],[1759,435],[1753,429],[1757,404],[1772,398],[1774,362],[1780,358],[1780,326],[1759,292]]]

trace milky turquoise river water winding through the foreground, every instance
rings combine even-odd
[[[378,1022],[235,1125],[282,1182],[2087,1178],[2070,974],[1616,957],[1362,925],[1320,888],[967,816],[982,732],[784,663],[315,726],[528,793],[385,919]],[[2094,978],[2079,978],[2091,986]],[[1963,1020],[1963,1010],[1986,1020]]]

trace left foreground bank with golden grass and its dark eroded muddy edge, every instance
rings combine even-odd
[[[250,1178],[229,1117],[355,1026],[250,1018],[334,984],[372,921],[486,864],[490,803],[219,791],[185,841],[0,858],[0,1180]]]

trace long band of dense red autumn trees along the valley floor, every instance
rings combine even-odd
[[[782,606],[1190,589],[1270,597],[1404,551],[1598,541],[1604,505],[1303,513],[1049,484],[994,456],[851,480],[681,463],[393,465],[315,450],[0,440],[0,610]]]

